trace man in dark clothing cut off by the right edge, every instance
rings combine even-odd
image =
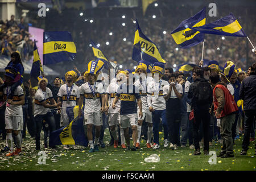
[[[245,130],[243,135],[242,152],[246,155],[250,145],[250,131],[256,118],[256,63],[251,65],[250,76],[242,81],[239,97],[243,100],[243,110],[245,111]],[[256,152],[256,143],[255,143]]]

